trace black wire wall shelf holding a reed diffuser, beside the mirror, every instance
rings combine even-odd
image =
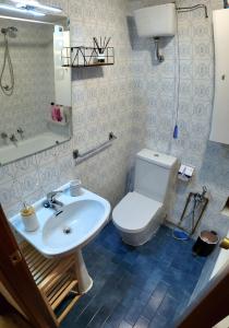
[[[114,65],[114,49],[107,47],[64,47],[61,51],[62,67],[80,68]]]

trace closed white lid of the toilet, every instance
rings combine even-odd
[[[143,231],[162,203],[137,192],[129,192],[113,209],[114,225],[123,232]]]

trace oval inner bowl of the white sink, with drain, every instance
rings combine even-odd
[[[43,227],[43,241],[53,253],[75,249],[87,243],[104,224],[106,207],[99,200],[83,199],[51,215]]]

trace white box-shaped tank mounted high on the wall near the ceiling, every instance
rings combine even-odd
[[[177,32],[174,3],[146,7],[134,11],[138,36],[173,36]]]

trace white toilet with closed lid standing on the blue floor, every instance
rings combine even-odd
[[[112,212],[113,224],[125,244],[143,245],[160,226],[168,212],[177,164],[176,157],[147,149],[136,154],[134,191],[129,192]]]

